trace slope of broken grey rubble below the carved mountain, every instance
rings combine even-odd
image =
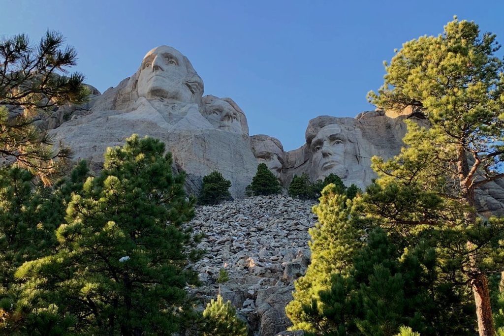
[[[285,332],[285,306],[309,263],[308,228],[317,221],[312,206],[275,195],[197,207],[191,225],[205,235],[199,247],[208,253],[195,265],[204,285],[194,294],[203,301],[217,294],[230,300],[250,334],[299,334]],[[221,270],[228,280],[219,281]]]

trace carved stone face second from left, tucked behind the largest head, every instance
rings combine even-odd
[[[215,128],[224,129],[232,133],[243,133],[241,129],[240,114],[231,104],[222,99],[204,101],[204,117]]]

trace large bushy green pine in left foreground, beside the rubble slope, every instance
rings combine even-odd
[[[36,307],[32,330],[50,329],[33,317],[44,307],[74,318],[70,331],[94,334],[170,334],[192,314],[184,288],[198,283],[188,263],[201,253],[182,224],[194,215],[194,199],[164,151],[136,135],[108,148],[100,175],[68,205],[57,253],[18,269],[23,297]]]

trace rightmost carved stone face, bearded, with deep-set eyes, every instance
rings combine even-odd
[[[346,177],[345,147],[348,137],[338,124],[322,127],[310,144],[311,172],[314,180],[324,179],[333,173]]]

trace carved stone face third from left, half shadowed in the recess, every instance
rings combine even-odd
[[[273,175],[280,179],[284,164],[280,142],[262,135],[250,137],[250,142],[258,163],[265,163]]]

